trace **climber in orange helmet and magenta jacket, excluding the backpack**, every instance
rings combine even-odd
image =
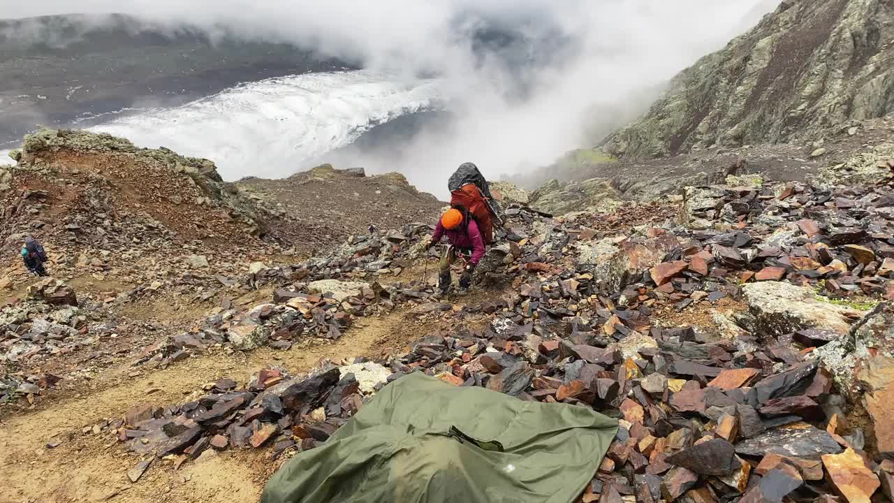
[[[431,248],[447,236],[450,246],[444,250],[441,256],[440,276],[438,288],[441,294],[447,294],[450,290],[452,278],[450,268],[457,259],[466,261],[460,277],[460,291],[465,292],[472,283],[472,272],[478,262],[485,256],[485,242],[475,218],[468,214],[468,210],[461,206],[452,206],[438,219],[434,227],[434,234],[426,248]]]

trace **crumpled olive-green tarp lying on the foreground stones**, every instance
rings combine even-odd
[[[413,373],[384,387],[319,448],[267,482],[262,503],[567,503],[618,422]]]

